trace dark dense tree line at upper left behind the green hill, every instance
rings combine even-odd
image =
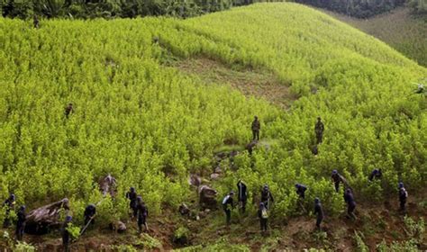
[[[0,0],[3,16],[136,17],[171,15],[189,17],[263,0]]]

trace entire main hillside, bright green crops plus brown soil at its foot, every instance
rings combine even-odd
[[[420,188],[427,185],[427,103],[413,94],[413,83],[427,69],[386,43],[291,3],[187,20],[49,20],[40,29],[0,19],[0,31],[0,193],[15,193],[29,210],[68,197],[77,225],[86,204],[100,202],[95,227],[76,251],[89,245],[170,249],[182,246],[172,238],[183,230],[190,233],[184,245],[195,251],[224,249],[228,242],[258,250],[267,241],[269,248],[341,249],[355,246],[355,231],[370,248],[383,237],[383,247],[410,238],[425,247],[422,234],[400,227],[426,212]],[[68,103],[75,109],[66,119]],[[262,125],[260,147],[251,156],[241,151],[224,159],[219,179],[211,180],[215,152],[250,142],[254,115]],[[317,116],[325,132],[313,156]],[[382,168],[384,177],[369,183],[373,168]],[[343,217],[332,169],[347,178],[363,206],[355,222]],[[118,182],[114,199],[97,190],[109,173]],[[247,215],[233,211],[232,226],[224,229],[221,206],[199,211],[190,174],[213,186],[218,201],[243,179]],[[395,210],[399,181],[412,197],[413,219]],[[296,210],[295,183],[309,188],[305,209],[321,198],[323,231],[312,232],[312,216]],[[256,220],[263,184],[275,195],[267,241]],[[124,194],[130,186],[150,210],[149,237],[136,235],[129,219]],[[179,216],[182,202],[204,218]],[[372,226],[375,216],[385,222]],[[126,222],[127,234],[105,230],[112,220]],[[25,239],[48,249],[59,246],[58,238],[53,232]],[[343,238],[346,243],[335,242]]]

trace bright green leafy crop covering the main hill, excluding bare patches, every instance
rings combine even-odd
[[[191,168],[206,165],[218,143],[230,137],[241,141],[249,137],[246,124],[255,109],[263,120],[268,118],[265,136],[279,138],[280,148],[257,153],[254,166],[248,165],[247,156],[240,157],[241,169],[227,172],[226,179],[214,185],[223,195],[234,187],[238,176],[249,182],[250,193],[258,192],[259,185],[268,182],[280,202],[274,212],[277,225],[288,217],[287,211],[292,213],[289,209],[293,202],[287,199],[294,197],[290,193],[293,188],[283,184],[294,184],[298,179],[308,184],[312,192],[322,193],[326,201],[341,200],[341,196],[327,196],[331,190],[324,188],[329,188],[329,183],[319,179],[327,177],[332,166],[340,166],[346,175],[354,175],[350,182],[357,184],[373,164],[386,165],[389,161],[375,155],[378,148],[388,150],[397,143],[412,149],[415,142],[423,140],[417,131],[425,129],[425,117],[420,115],[422,107],[416,99],[402,103],[400,98],[410,92],[411,81],[426,75],[426,69],[385,43],[303,5],[254,4],[187,21],[50,21],[42,23],[40,31],[19,21],[2,19],[0,25],[2,31],[8,32],[3,33],[1,44],[0,64],[5,66],[1,81],[6,86],[2,103],[13,105],[9,110],[17,114],[11,118],[8,110],[2,111],[7,121],[2,124],[2,132],[4,139],[20,151],[7,149],[8,144],[2,146],[7,157],[2,160],[3,165],[10,170],[2,183],[6,187],[17,186],[20,198],[41,200],[46,193],[52,197],[71,193],[75,197],[74,207],[77,205],[80,212],[84,203],[99,197],[98,193],[87,193],[94,186],[93,179],[110,169],[121,181],[121,195],[128,184],[137,184],[150,209],[159,211],[160,202],[174,204],[186,198],[184,194],[174,198],[169,193],[188,193],[184,177],[179,177],[182,181],[163,182],[164,166],[179,168],[176,173],[185,176]],[[155,36],[159,36],[160,47],[151,44]],[[64,48],[64,44],[68,47]],[[229,66],[261,68],[278,76],[283,85],[291,85],[304,98],[295,102],[292,112],[282,120],[277,109],[268,103],[245,99],[227,87],[198,85],[199,79],[178,75],[162,66],[170,54],[184,58],[204,56]],[[117,65],[120,67],[114,70]],[[319,88],[319,95],[311,95],[311,87]],[[68,88],[73,94],[69,94]],[[380,89],[384,89],[381,94],[377,92]],[[16,90],[27,95],[15,96]],[[69,100],[77,101],[79,111],[86,112],[77,112],[70,123],[63,123],[62,104]],[[141,106],[143,113],[139,112]],[[101,112],[100,107],[104,109]],[[406,108],[414,108],[412,116],[416,120],[406,123],[400,112]],[[28,112],[31,110],[33,113]],[[313,139],[313,118],[317,114],[325,115],[328,131],[321,148],[324,156],[315,159],[307,146]],[[391,120],[404,122],[386,126]],[[29,141],[15,139],[14,125],[18,121]],[[84,121],[90,121],[91,127],[86,127]],[[407,124],[412,128],[406,128]],[[360,125],[363,130],[351,132]],[[378,125],[393,131],[391,140],[384,139],[383,146],[377,146],[377,139],[372,137]],[[70,147],[68,135],[78,136],[77,146]],[[116,139],[122,140],[112,145]],[[141,144],[140,139],[149,144]],[[168,148],[172,143],[174,148]],[[64,146],[71,155],[62,150]],[[44,148],[50,151],[43,152]],[[288,150],[293,150],[293,154],[288,154]],[[422,162],[422,145],[417,151],[420,153],[407,160],[403,158],[399,171],[403,175],[406,169]],[[188,153],[195,155],[193,160]],[[21,159],[19,165],[14,164],[16,156]],[[28,177],[27,183],[44,184],[42,190],[29,192],[20,184],[17,175],[25,175],[27,165],[36,172]],[[51,168],[54,165],[65,168]],[[70,173],[70,167],[77,174]],[[38,170],[49,175],[37,173]],[[395,177],[397,172],[389,173]],[[56,183],[47,183],[48,178]],[[390,179],[385,184],[390,186],[394,182]],[[56,185],[61,183],[72,186],[64,192],[62,185]],[[308,198],[311,202],[313,194]],[[122,196],[120,201],[123,202]],[[121,207],[126,208],[126,204]],[[186,225],[186,220],[175,218],[168,216],[168,221],[176,222],[172,224],[175,226],[177,221]],[[193,230],[212,233],[213,229],[222,228],[222,219],[221,213],[215,212],[203,222],[206,229]],[[152,223],[154,229],[162,227],[160,222]],[[191,225],[199,226],[197,222],[190,224],[190,228]],[[237,225],[232,228],[240,229]],[[165,238],[161,230],[155,235]],[[218,236],[231,237],[220,232],[209,241]],[[256,238],[261,239],[258,235]],[[203,237],[195,241],[201,243]]]

